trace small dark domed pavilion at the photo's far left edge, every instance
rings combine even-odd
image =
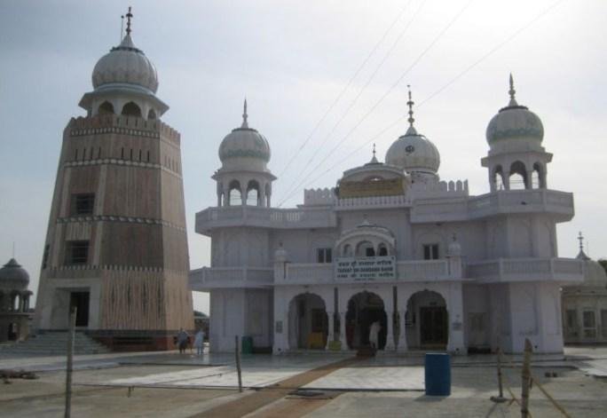
[[[0,269],[0,343],[28,336],[29,274],[11,258]]]

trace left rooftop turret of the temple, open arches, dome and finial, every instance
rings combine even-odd
[[[217,181],[217,206],[270,207],[276,179],[267,168],[270,156],[267,139],[248,127],[245,99],[240,128],[233,129],[219,146],[222,166],[212,177]]]

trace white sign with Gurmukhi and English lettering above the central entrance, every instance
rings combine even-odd
[[[373,281],[396,278],[396,257],[340,257],[335,260],[337,280]]]

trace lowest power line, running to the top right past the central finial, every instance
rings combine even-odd
[[[417,107],[419,108],[420,106],[423,106],[423,104],[427,103],[431,99],[434,99],[436,96],[438,96],[440,93],[442,93],[443,91],[445,91],[448,87],[450,87],[453,83],[455,83],[456,81],[458,81],[463,75],[466,75],[467,73],[469,73],[470,70],[472,70],[474,67],[477,67],[478,64],[480,64],[481,62],[483,62],[485,59],[489,58],[491,55],[493,55],[494,52],[500,50],[504,45],[506,45],[507,43],[509,43],[510,41],[512,41],[514,38],[516,38],[517,35],[520,35],[522,32],[524,32],[524,30],[526,30],[528,28],[531,28],[532,25],[536,21],[540,20],[542,17],[544,17],[546,14],[548,14],[548,12],[551,12],[553,9],[556,8],[556,6],[558,6],[559,4],[561,4],[563,2],[564,2],[564,0],[557,0],[555,3],[549,5],[542,12],[540,12],[539,14],[537,14],[532,20],[530,20],[529,22],[527,22],[526,24],[524,24],[522,27],[516,29],[516,31],[513,32],[512,35],[508,35],[508,37],[506,39],[504,39],[503,41],[501,41],[501,43],[498,43],[491,50],[489,50],[488,52],[486,52],[483,56],[481,56],[480,59],[477,59],[474,63],[472,63],[469,67],[466,67],[458,75],[455,75],[449,82],[445,83],[437,91],[434,91],[426,99],[423,99],[421,102],[419,102],[419,104],[417,105]],[[383,135],[383,133],[385,133],[387,130],[390,130],[391,128],[393,128],[394,126],[396,126],[399,122],[401,122],[402,120],[404,120],[405,117],[406,117],[406,115],[398,117],[397,120],[395,120],[394,122],[391,122],[388,126],[386,126],[384,129],[382,129],[379,133],[375,134],[372,138],[368,139],[367,142],[365,142],[364,144],[362,144],[361,146],[359,146],[358,148],[356,148],[355,150],[353,150],[350,154],[346,155],[342,160],[340,160],[339,162],[336,162],[331,167],[329,167],[327,170],[325,170],[322,173],[320,173],[319,176],[314,177],[310,182],[308,182],[306,184],[306,186],[307,185],[311,185],[312,183],[314,183],[316,180],[318,180],[320,177],[324,176],[328,172],[330,172],[332,170],[335,170],[335,168],[337,168],[340,164],[342,164],[343,162],[346,162],[347,160],[349,160],[352,155],[359,153],[360,150],[362,150],[364,147],[368,146],[376,138],[381,137]],[[299,187],[299,185],[298,185],[298,187]],[[281,201],[280,204],[284,203],[285,201],[288,201],[288,199],[290,199],[296,193],[296,191],[297,191],[297,189],[294,190],[294,191],[292,191],[291,193],[289,193],[288,196],[283,201]]]

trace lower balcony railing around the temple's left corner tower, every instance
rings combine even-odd
[[[265,267],[203,267],[189,274],[193,290],[258,288],[274,282],[274,270]]]

